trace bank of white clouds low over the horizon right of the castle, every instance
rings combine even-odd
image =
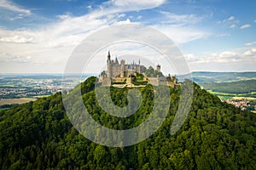
[[[190,71],[256,71],[256,48],[220,53],[184,54]],[[245,55],[247,54],[247,55]]]

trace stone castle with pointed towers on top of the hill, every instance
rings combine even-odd
[[[168,77],[163,76],[160,71],[160,65],[156,66],[156,70],[151,67],[150,72],[144,65],[141,65],[140,59],[138,60],[138,64],[134,61],[132,64],[125,64],[124,59],[121,59],[119,63],[117,58],[114,60],[111,59],[109,51],[107,57],[107,69],[107,71],[102,71],[99,76],[99,82],[102,82],[103,86],[112,85],[117,88],[132,88],[144,87],[147,83],[150,83],[154,86],[167,85],[175,88],[178,85],[176,76],[171,77],[170,74]]]

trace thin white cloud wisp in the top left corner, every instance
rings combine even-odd
[[[16,13],[23,13],[23,14],[31,14],[31,11],[26,8],[21,8],[15,3],[11,3],[8,0],[1,0],[0,2],[0,8],[4,8]]]

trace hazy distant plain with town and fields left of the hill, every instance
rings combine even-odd
[[[73,88],[80,79],[68,77],[66,84]],[[25,103],[61,92],[62,75],[1,75],[0,109]]]

